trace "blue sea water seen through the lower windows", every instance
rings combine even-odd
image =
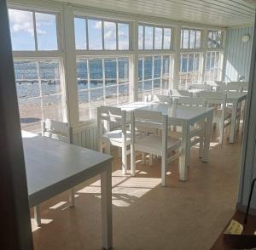
[[[138,82],[139,91],[148,91],[152,87],[160,87],[161,71],[162,76],[169,74],[169,57],[146,57],[144,61],[138,61]],[[87,65],[89,64],[89,65]],[[144,64],[144,71],[143,71]],[[103,65],[105,71],[103,71]],[[154,67],[153,67],[154,65]],[[154,71],[153,71],[154,68]],[[90,73],[90,84],[88,82]],[[102,99],[103,95],[103,74],[105,74],[106,98],[129,94],[129,59],[78,60],[77,61],[77,86],[79,90],[79,102],[86,102],[89,99]],[[142,80],[144,77],[144,82]],[[154,82],[152,82],[152,77]],[[38,82],[41,82],[39,86]],[[118,82],[117,82],[118,79]],[[18,99],[20,101],[35,101],[42,95],[48,101],[59,101],[61,95],[60,63],[57,60],[44,61],[15,61],[15,80]],[[152,84],[153,83],[153,84]],[[90,85],[90,91],[89,90]]]

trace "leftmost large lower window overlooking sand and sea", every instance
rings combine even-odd
[[[45,118],[62,121],[58,60],[15,61],[15,80],[22,129],[38,133]]]

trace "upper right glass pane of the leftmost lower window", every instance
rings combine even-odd
[[[38,62],[42,95],[61,93],[60,69],[57,61]]]

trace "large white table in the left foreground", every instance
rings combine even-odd
[[[22,142],[30,207],[101,175],[102,247],[110,249],[113,245],[113,157],[26,131],[22,131]]]

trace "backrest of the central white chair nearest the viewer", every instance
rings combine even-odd
[[[137,128],[158,128],[162,132],[162,151],[166,151],[168,138],[168,115],[159,111],[135,110],[131,113],[131,143],[136,144]],[[149,146],[149,145],[148,145]]]

